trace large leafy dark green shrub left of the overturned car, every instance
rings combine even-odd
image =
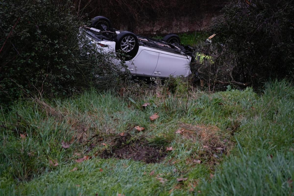
[[[122,73],[112,63],[114,55],[88,44],[80,32],[81,16],[73,11],[70,2],[0,0],[2,103],[20,96],[69,95],[117,81]],[[95,77],[105,73],[107,79]]]

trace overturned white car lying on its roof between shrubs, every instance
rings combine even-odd
[[[162,40],[138,36],[113,29],[104,16],[96,16],[91,26],[84,29],[86,36],[103,50],[125,53],[127,69],[133,75],[166,78],[191,74],[193,48],[181,45],[175,34],[168,34]]]

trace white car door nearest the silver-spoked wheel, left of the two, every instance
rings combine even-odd
[[[150,50],[141,50],[138,52],[140,52],[138,56],[127,64],[128,70],[139,76],[152,76],[157,65],[159,53]]]

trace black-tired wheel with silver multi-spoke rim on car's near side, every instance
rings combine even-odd
[[[139,50],[138,38],[132,32],[123,31],[123,32],[119,33],[118,36],[116,37],[115,42],[116,42],[116,44],[115,44],[116,52],[122,51],[123,54],[125,54],[125,55],[117,54],[117,56],[120,59],[123,59],[122,57],[124,57],[125,61],[129,61],[129,60],[133,59],[136,56],[136,54],[138,53],[138,50]],[[123,44],[125,42],[127,45],[125,45],[125,47],[124,47]]]

